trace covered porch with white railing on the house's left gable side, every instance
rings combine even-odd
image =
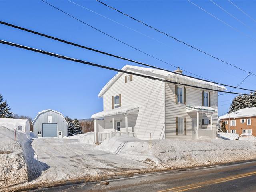
[[[120,135],[137,137],[134,126],[138,112],[138,106],[122,106],[92,115],[92,118],[94,118],[95,143]]]

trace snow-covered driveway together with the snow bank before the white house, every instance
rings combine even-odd
[[[23,148],[29,182],[8,188],[9,191],[256,158],[255,145],[248,141],[218,138],[150,142],[124,135],[96,146],[92,132],[68,138],[33,138]]]

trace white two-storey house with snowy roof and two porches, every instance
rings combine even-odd
[[[182,76],[179,68],[176,73],[131,65],[122,70],[203,88],[226,89]],[[216,137],[217,91],[118,72],[98,96],[103,97],[103,111],[92,115],[96,143],[121,134],[142,140],[150,139],[150,134],[151,139]]]

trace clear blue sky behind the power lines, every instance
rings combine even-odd
[[[72,1],[163,43],[147,38],[67,0],[46,1],[144,52],[200,76],[234,86],[247,76],[245,72],[188,48],[106,6],[102,6],[95,0]],[[193,0],[192,2],[236,30],[186,0],[107,1],[109,5],[180,40],[256,73],[256,22],[226,0],[214,2],[247,26],[208,0]],[[233,0],[232,2],[256,19],[256,1]],[[0,6],[0,18],[4,22],[168,70],[175,70],[168,64],[150,58],[89,28],[40,0],[0,0]],[[8,26],[0,25],[0,36],[2,40],[115,68],[132,64]],[[90,118],[92,114],[102,110],[102,98],[98,98],[98,93],[106,82],[116,74],[116,72],[52,58],[4,44],[0,44],[0,58],[0,93],[8,101],[12,112],[32,118],[39,111],[48,108],[58,110],[71,118]],[[250,76],[241,86],[255,89],[255,80],[255,76]],[[242,90],[237,91],[242,92]],[[234,96],[233,94],[219,96],[219,115],[227,112],[228,104],[231,103]]]

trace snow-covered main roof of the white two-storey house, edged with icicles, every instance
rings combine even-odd
[[[193,86],[200,86],[203,88],[212,88],[216,90],[226,90],[226,87],[220,86],[215,83],[206,82],[204,80],[198,80],[196,78],[186,77],[180,74],[175,74],[172,72],[160,70],[160,69],[153,69],[153,68],[145,68],[145,67],[138,67],[133,65],[126,65],[122,68],[124,71],[132,71],[139,74],[143,74],[146,76],[161,78],[161,79],[167,79],[173,82],[179,82],[184,84],[189,84]],[[99,97],[102,97],[104,93],[116,82],[116,80],[122,75],[122,72],[118,72],[100,91]]]

